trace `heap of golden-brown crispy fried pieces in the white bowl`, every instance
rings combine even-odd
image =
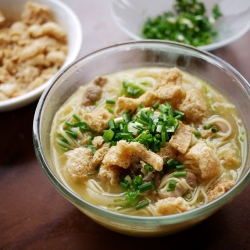
[[[0,11],[0,101],[49,80],[67,55],[67,36],[48,6],[27,2],[20,21]]]

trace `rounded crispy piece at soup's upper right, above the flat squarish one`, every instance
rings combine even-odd
[[[186,97],[177,108],[185,113],[185,118],[194,122],[204,118],[207,112],[206,101],[196,89],[187,90]]]

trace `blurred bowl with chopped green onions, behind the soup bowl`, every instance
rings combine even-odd
[[[250,28],[250,2],[240,0],[111,0],[116,24],[133,39],[181,42],[207,51]]]

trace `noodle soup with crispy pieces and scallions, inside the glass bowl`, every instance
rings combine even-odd
[[[220,197],[241,171],[244,127],[208,83],[177,68],[115,72],[58,110],[53,160],[65,185],[119,213],[183,213]]]

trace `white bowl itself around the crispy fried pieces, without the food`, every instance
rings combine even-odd
[[[1,0],[0,10],[2,10],[7,18],[20,20],[20,14],[23,11],[27,1],[28,0]],[[80,52],[82,45],[81,23],[70,7],[59,0],[34,0],[34,2],[49,6],[49,8],[52,10],[55,21],[61,27],[63,27],[67,33],[68,54],[64,64],[59,70],[61,71],[66,65],[73,62]],[[37,100],[44,89],[50,85],[51,81],[52,79],[22,96],[0,101],[0,112],[20,108]]]

